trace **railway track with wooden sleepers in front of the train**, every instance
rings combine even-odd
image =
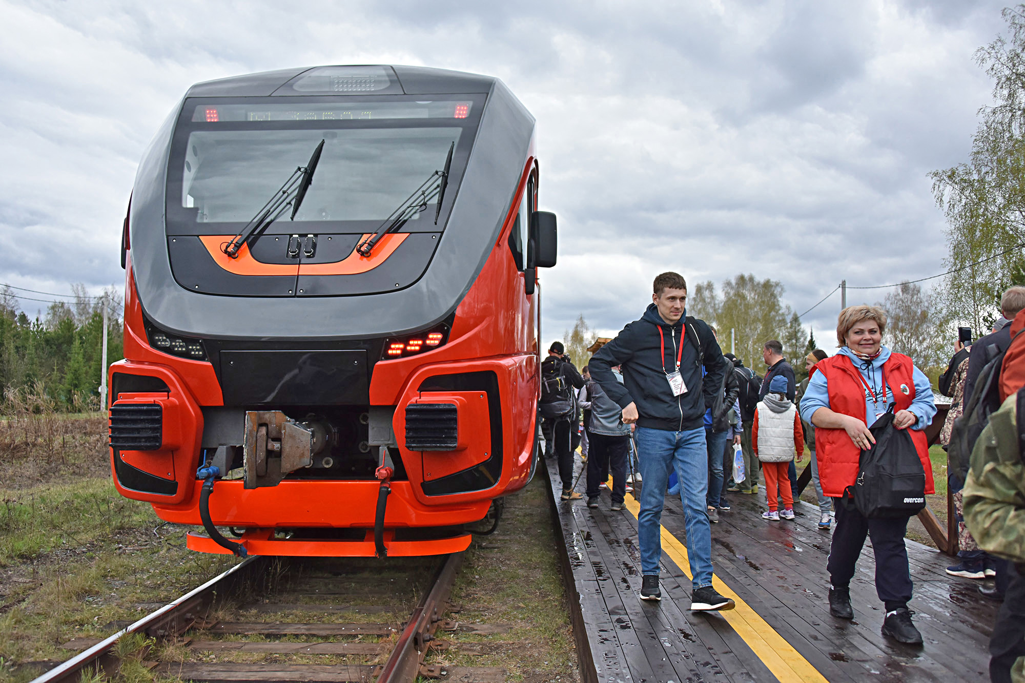
[[[122,665],[118,643],[126,638],[140,644],[130,655],[136,662],[182,680],[504,681],[498,669],[425,661],[430,651],[449,647],[446,632],[502,633],[501,627],[442,619],[457,609],[448,600],[461,562],[462,553],[386,565],[251,557],[134,622],[116,624],[109,638],[71,641],[66,647],[83,651],[33,683],[77,683],[90,672],[112,677]],[[168,648],[178,656],[169,657]]]

